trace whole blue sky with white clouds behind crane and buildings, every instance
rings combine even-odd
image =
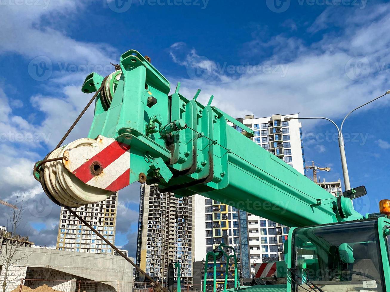
[[[116,2],[115,2],[116,1]],[[32,165],[52,150],[87,103],[90,71],[112,72],[128,49],[152,59],[187,97],[232,116],[300,112],[340,123],[354,107],[390,89],[390,4],[366,0],[5,0],[0,17],[1,199],[25,194],[24,231],[55,243],[59,208],[45,201]],[[130,5],[131,4],[131,5]],[[344,126],[351,185],[369,194],[361,213],[388,198],[390,137],[385,96]],[[68,141],[87,135],[87,111]],[[342,178],[335,128],[303,121],[305,158]],[[324,137],[330,137],[324,139]],[[309,174],[310,175],[310,174]],[[139,185],[120,195],[116,243],[135,253]],[[9,210],[0,207],[3,214]],[[6,224],[3,216],[0,224]]]

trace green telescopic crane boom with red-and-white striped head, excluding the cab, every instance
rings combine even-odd
[[[248,139],[250,128],[211,101],[198,102],[199,91],[188,99],[177,84],[170,94],[168,80],[137,51],[124,53],[120,66],[105,79],[92,73],[85,80],[83,92],[101,90],[88,136],[96,142],[57,151],[70,178],[110,192],[134,181],[158,183],[162,192],[199,193],[287,226],[362,218],[350,199],[333,197]],[[227,121],[243,128],[244,135]],[[75,202],[72,197],[76,205],[94,198],[80,195]]]

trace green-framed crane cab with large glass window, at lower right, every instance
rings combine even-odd
[[[293,228],[287,291],[390,291],[390,220]]]

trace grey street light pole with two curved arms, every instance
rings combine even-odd
[[[380,99],[381,97],[385,96],[386,94],[389,94],[390,93],[390,90],[386,91],[386,93],[370,100],[369,102],[366,102],[365,104],[362,104],[361,106],[358,106],[356,107],[355,109],[353,109],[352,111],[350,111],[345,117],[344,119],[342,120],[342,123],[341,123],[341,126],[339,128],[339,126],[337,126],[337,124],[332,121],[331,119],[328,119],[328,118],[324,118],[324,117],[308,117],[308,118],[295,118],[293,116],[286,116],[284,118],[285,121],[289,121],[289,120],[294,120],[294,119],[323,119],[323,120],[327,120],[327,121],[330,121],[331,123],[333,123],[333,125],[336,126],[337,128],[337,131],[339,132],[339,149],[340,149],[340,158],[341,158],[341,167],[342,167],[342,173],[343,173],[343,177],[344,177],[344,188],[345,190],[351,190],[351,185],[349,183],[349,174],[348,174],[348,167],[347,167],[347,158],[346,158],[346,155],[345,155],[345,145],[344,145],[344,137],[342,135],[342,126],[344,125],[344,122],[346,120],[346,118],[351,114],[353,113],[354,111],[356,111],[356,109],[360,109],[360,107],[363,107],[365,106],[366,104],[369,104],[371,102],[373,102],[374,100],[377,100],[377,99]]]

